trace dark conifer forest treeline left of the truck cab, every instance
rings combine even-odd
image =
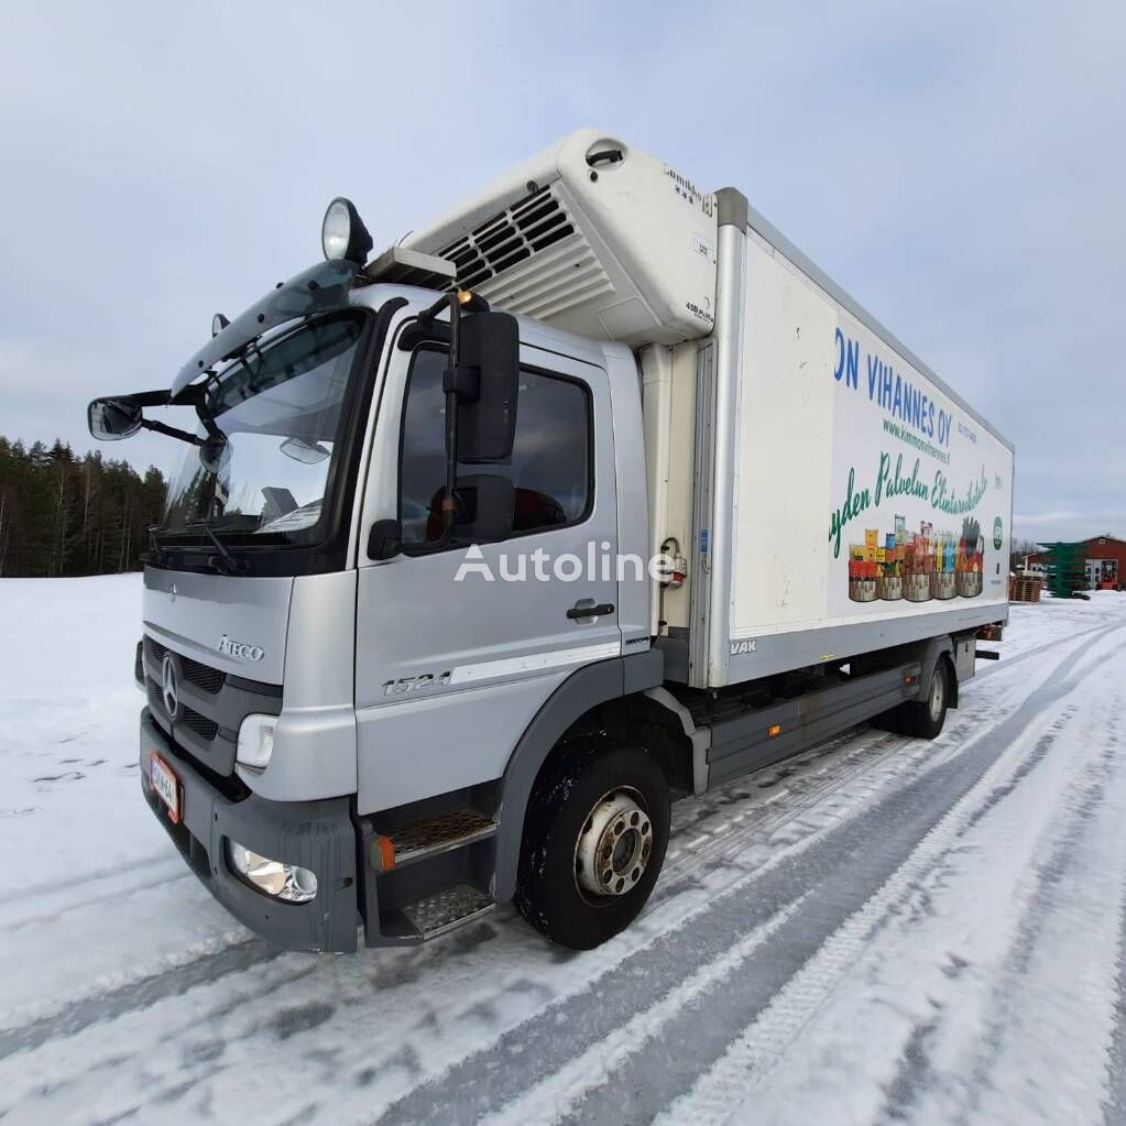
[[[0,436],[0,578],[115,574],[141,568],[164,477],[56,440]]]

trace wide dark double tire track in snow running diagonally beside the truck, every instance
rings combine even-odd
[[[765,926],[798,894],[808,893],[805,905],[780,926],[770,944],[770,956],[752,955],[748,959],[745,982],[725,982],[725,988],[698,999],[691,1011],[670,1022],[649,1045],[640,1065],[644,1075],[635,1071],[636,1060],[627,1061],[611,1087],[598,1087],[596,1082],[575,1111],[579,1120],[633,1121],[653,1117],[722,1055],[731,1039],[725,1029],[743,1027],[748,1013],[763,1009],[823,940],[855,913],[857,905],[902,866],[904,856],[917,848],[926,830],[1066,695],[1073,686],[1072,672],[1089,653],[1076,645],[1046,669],[1046,679],[1054,677],[1055,682],[1038,700],[1016,707],[995,729],[983,733],[973,752],[965,753],[968,762],[959,757],[936,767],[812,841],[790,844],[774,861],[741,877],[685,923],[692,928],[688,944],[694,955],[691,965],[686,965],[683,958],[685,936],[674,929],[662,931],[644,949],[600,975],[587,993],[570,997],[565,1010],[556,1002],[500,1036],[492,1046],[467,1055],[393,1103],[381,1120],[468,1123],[520,1098],[526,1078],[511,1067],[513,1053],[535,1058],[542,1073],[560,1071],[599,1040],[613,1036],[641,1007],[658,1003],[682,983],[692,966],[721,957],[748,929]],[[854,852],[873,855],[874,867],[850,870],[847,858]],[[832,878],[826,872],[832,873]],[[751,886],[754,899],[735,894]],[[700,1019],[704,1008],[708,1012],[706,1021]]]

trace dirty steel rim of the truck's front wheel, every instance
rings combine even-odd
[[[604,794],[574,847],[574,882],[584,899],[614,899],[637,886],[653,855],[653,822],[634,789]]]

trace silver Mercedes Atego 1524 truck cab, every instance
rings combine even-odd
[[[551,749],[662,679],[649,577],[616,573],[647,543],[633,355],[520,319],[511,454],[459,467],[511,482],[511,526],[427,551],[449,318],[434,288],[370,282],[418,271],[390,257],[217,321],[168,393],[197,420],[145,568],[143,790],[231,913],[300,949],[418,941],[511,899]],[[289,316],[325,270],[347,284]],[[122,415],[169,429],[91,406],[101,437]]]

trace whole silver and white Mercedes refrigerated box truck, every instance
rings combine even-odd
[[[582,129],[372,247],[333,200],[324,261],[89,410],[184,445],[142,789],[241,922],[515,901],[592,947],[671,799],[941,731],[1008,617],[1012,447],[742,194]]]

